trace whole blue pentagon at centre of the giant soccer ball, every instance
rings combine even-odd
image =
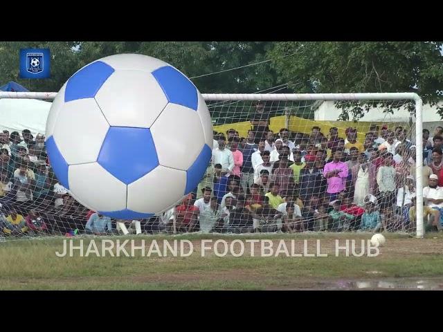
[[[150,129],[109,127],[98,163],[126,185],[159,165]]]

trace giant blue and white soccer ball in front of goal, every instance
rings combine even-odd
[[[87,208],[141,219],[171,208],[204,176],[208,108],[188,78],[136,54],[104,57],[71,76],[46,122],[55,175]]]

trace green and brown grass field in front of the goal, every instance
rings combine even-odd
[[[414,239],[387,234],[377,257],[335,257],[335,239],[370,239],[370,234],[186,234],[178,237],[132,237],[137,243],[163,239],[187,239],[194,244],[190,257],[57,257],[64,238],[21,239],[0,242],[0,289],[2,290],[296,290],[296,289],[443,289],[443,235]],[[82,238],[85,251],[92,238]],[[94,238],[99,244],[102,239]],[[217,257],[211,250],[201,257],[201,239],[295,239],[302,252],[308,239],[309,252],[328,257]],[[80,239],[74,239],[78,245]],[[359,241],[357,241],[359,242]],[[100,248],[100,246],[99,246]],[[127,249],[130,247],[127,247]],[[128,249],[129,251],[129,249]],[[248,250],[246,250],[246,253]],[[250,252],[250,251],[249,251]],[[256,251],[258,252],[258,251]]]

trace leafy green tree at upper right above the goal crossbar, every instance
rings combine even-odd
[[[442,47],[443,42],[278,42],[267,54],[296,93],[415,92],[433,106],[442,98]],[[347,111],[358,120],[368,105],[341,106],[343,120]],[[392,111],[399,104],[385,106]],[[443,108],[438,112],[443,118]]]

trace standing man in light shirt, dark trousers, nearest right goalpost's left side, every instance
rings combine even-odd
[[[395,201],[395,168],[392,166],[392,154],[383,156],[384,164],[377,171],[377,185],[379,186],[380,209],[383,214],[392,207]]]

